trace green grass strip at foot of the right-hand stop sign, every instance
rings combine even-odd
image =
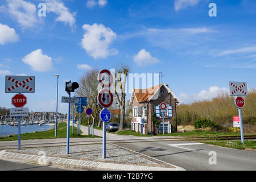
[[[221,147],[236,148],[240,150],[245,150],[246,148],[256,149],[256,141],[245,140],[243,144],[241,141],[234,140],[217,140],[217,141],[200,141],[201,143],[213,144]]]

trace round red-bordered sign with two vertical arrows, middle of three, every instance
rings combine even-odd
[[[100,92],[98,92],[97,99],[102,107],[108,108],[113,103],[113,94],[108,89],[101,89]]]

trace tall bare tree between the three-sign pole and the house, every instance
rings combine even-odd
[[[117,68],[117,74],[115,73],[115,95],[117,97],[117,101],[120,104],[120,127],[119,130],[124,130],[125,124],[125,87],[126,87],[126,78],[130,71],[130,68],[127,64],[121,64],[119,68]],[[120,92],[119,95],[117,92]]]

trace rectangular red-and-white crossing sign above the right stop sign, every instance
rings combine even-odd
[[[246,82],[229,82],[229,93],[230,96],[248,96]]]

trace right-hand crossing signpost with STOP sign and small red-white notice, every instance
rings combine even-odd
[[[235,126],[240,127],[241,142],[243,143],[244,139],[243,139],[243,123],[242,123],[241,108],[245,105],[245,100],[242,98],[242,96],[248,96],[246,82],[230,81],[229,93],[230,93],[230,96],[236,96],[234,98],[234,104],[238,107],[239,117],[233,118],[233,125],[234,127]]]

